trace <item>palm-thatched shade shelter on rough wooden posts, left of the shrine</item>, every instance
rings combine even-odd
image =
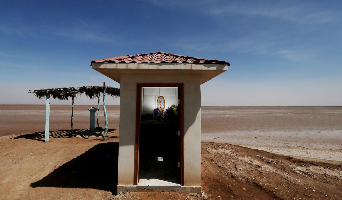
[[[100,96],[108,94],[111,98],[116,98],[120,96],[120,88],[113,88],[109,86],[82,86],[79,88],[49,88],[49,89],[40,89],[40,90],[29,90],[29,93],[34,93],[34,95],[38,98],[46,98],[46,118],[45,118],[45,142],[49,141],[49,114],[50,114],[50,96],[54,99],[58,100],[69,100],[69,97],[72,98],[72,106],[71,106],[71,130],[73,129],[73,115],[74,115],[74,103],[75,97],[80,96],[81,94],[85,94],[90,99],[98,98],[97,104],[97,126],[98,124],[98,111],[99,111],[99,103]],[[104,102],[105,105],[105,102]],[[105,118],[107,118],[106,113]]]

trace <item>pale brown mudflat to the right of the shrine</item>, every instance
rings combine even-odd
[[[342,161],[342,107],[202,107],[202,140]]]

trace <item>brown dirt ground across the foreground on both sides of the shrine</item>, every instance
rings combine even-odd
[[[227,143],[202,142],[204,195],[119,193],[119,131],[0,137],[0,199],[342,199],[342,163],[296,159]],[[326,197],[324,196],[326,195]]]

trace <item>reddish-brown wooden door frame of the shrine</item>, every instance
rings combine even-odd
[[[134,179],[133,184],[137,185],[139,181],[139,139],[140,139],[140,104],[141,87],[179,87],[180,88],[180,177],[181,185],[184,186],[184,86],[183,83],[136,83],[136,115],[135,115],[135,144],[134,144]]]

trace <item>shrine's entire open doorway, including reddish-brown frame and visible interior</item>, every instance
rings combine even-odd
[[[137,186],[180,187],[183,183],[183,84],[138,83],[137,89],[140,91]]]

